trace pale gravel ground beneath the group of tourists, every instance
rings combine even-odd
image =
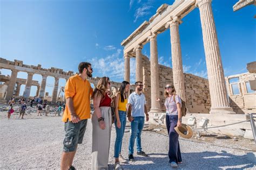
[[[6,111],[0,112],[0,169],[59,169],[60,154],[62,153],[64,124],[61,117],[37,116],[36,113],[25,115],[18,119],[18,113],[6,118]],[[122,154],[127,158],[129,145],[129,128],[124,134]],[[73,162],[77,169],[91,168],[91,136],[92,125],[89,120],[83,144],[78,150]],[[109,164],[113,168],[113,151],[116,134],[112,128]],[[247,160],[249,151],[230,147],[214,146],[179,139],[183,164],[178,169],[256,169]],[[136,161],[123,164],[125,169],[170,169],[168,138],[153,131],[142,133],[143,151],[149,157],[134,154]],[[134,147],[135,148],[135,147]]]

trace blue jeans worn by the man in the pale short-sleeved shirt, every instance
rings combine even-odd
[[[144,118],[142,116],[139,117],[133,117],[134,120],[131,122],[131,130],[132,134],[130,137],[130,143],[129,143],[129,154],[133,154],[133,147],[134,147],[134,141],[135,138],[137,137],[136,144],[137,144],[137,151],[140,152],[142,151],[142,129],[144,127]]]

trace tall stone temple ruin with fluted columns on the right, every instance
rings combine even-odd
[[[177,94],[186,101],[188,112],[194,117],[207,117],[212,126],[245,120],[245,113],[256,111],[255,89],[251,89],[255,87],[255,72],[224,77],[211,2],[176,0],[172,5],[163,4],[149,21],[142,23],[121,42],[124,46],[124,79],[130,81],[130,58],[135,58],[136,81],[145,84],[144,93],[150,102],[150,112],[161,112],[155,99],[164,101],[163,92],[167,83],[174,84]],[[245,6],[254,3],[246,2],[241,0],[234,8],[239,4]],[[208,80],[183,73],[179,25],[194,9],[199,9],[200,12]],[[171,36],[172,69],[158,64],[157,36],[167,29],[170,29]],[[147,42],[150,42],[150,61],[142,54],[142,48]],[[209,112],[210,114],[201,114]],[[200,116],[193,113],[200,113]],[[228,127],[227,130],[221,129],[220,133],[246,136],[246,133],[252,134],[252,131],[250,123],[246,122]]]

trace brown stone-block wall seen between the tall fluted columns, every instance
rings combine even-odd
[[[208,80],[196,75],[186,73],[184,73],[184,80],[188,112],[208,113],[211,108]],[[150,61],[146,56],[143,56],[143,83],[144,94],[147,101],[147,109],[150,110]],[[159,65],[159,90],[160,99],[162,102],[165,101],[164,87],[166,84],[173,84],[172,68]]]

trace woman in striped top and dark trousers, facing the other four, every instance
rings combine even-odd
[[[179,134],[174,130],[176,126],[181,126],[181,98],[176,95],[173,85],[167,84],[164,91],[166,108],[166,127],[169,134],[169,162],[172,167],[178,167],[182,163]],[[160,101],[157,98],[157,101]]]

